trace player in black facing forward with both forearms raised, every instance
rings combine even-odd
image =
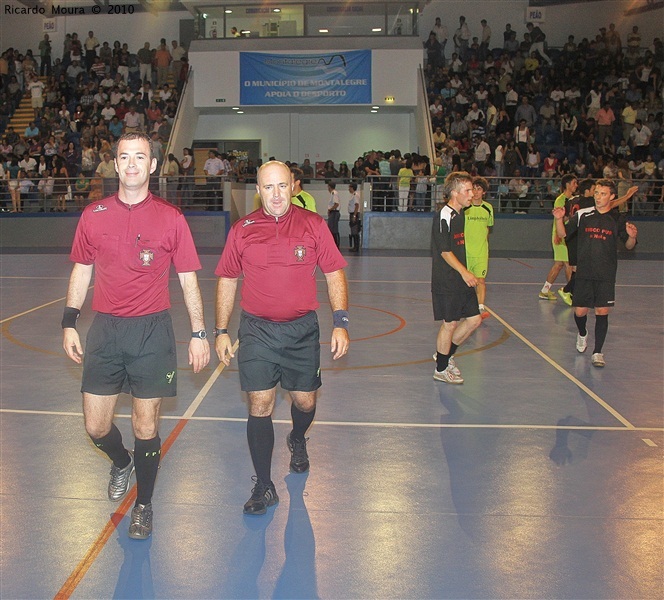
[[[612,208],[616,188],[610,179],[595,183],[595,206],[580,209],[563,222],[564,208],[555,208],[556,231],[560,237],[577,240],[577,269],[574,289],[574,320],[579,333],[576,349],[585,352],[588,331],[588,310],[595,310],[595,348],[592,364],[605,365],[602,346],[609,329],[609,311],[615,304],[616,271],[618,269],[618,238],[627,250],[636,246],[637,229],[625,215]]]

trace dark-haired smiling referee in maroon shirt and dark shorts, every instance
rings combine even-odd
[[[153,196],[150,174],[157,168],[150,138],[127,133],[118,140],[117,194],[88,205],[76,229],[62,319],[63,347],[83,363],[83,417],[95,446],[113,461],[110,500],[121,500],[136,470],[138,488],[129,537],[152,533],[152,493],[161,440],[157,431],[163,397],[176,395],[177,356],[168,312],[168,274],[175,266],[191,322],[189,364],[194,373],[210,360],[203,301],[196,271],[201,268],[189,227],[179,208]],[[97,311],[86,339],[85,358],[76,321],[95,273],[92,309]],[[134,452],[113,423],[121,392],[132,399]]]

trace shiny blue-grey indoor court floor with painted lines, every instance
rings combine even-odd
[[[210,331],[218,256],[201,259]],[[68,257],[1,256],[0,597],[663,598],[662,262],[621,261],[597,369],[592,347],[575,350],[572,309],[538,300],[551,260],[492,258],[492,316],[457,354],[460,386],[432,378],[430,259],[348,262],[352,343],[336,362],[318,275],[311,470],[288,472],[281,394],[281,501],[258,517],[242,514],[253,471],[237,365],[213,356],[191,373],[171,274],[179,395],[163,403],[154,533],[135,541],[135,488],[106,499],[110,464],[85,434],[81,369],[61,349]],[[235,331],[237,316],[238,303]],[[133,448],[128,397],[117,412]]]

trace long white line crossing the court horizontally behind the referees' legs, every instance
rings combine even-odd
[[[222,363],[223,364],[223,363]],[[219,371],[221,373],[221,371]],[[217,375],[218,377],[218,375]],[[212,379],[212,378],[210,378]],[[216,379],[216,377],[215,377]],[[201,390],[202,391],[202,390]],[[199,394],[201,396],[201,394]],[[198,397],[197,397],[198,398]],[[201,398],[202,400],[202,398]],[[194,401],[195,402],[195,401]],[[200,402],[199,402],[200,404]],[[191,407],[190,407],[191,409]],[[160,415],[159,418],[165,421],[180,421],[188,419],[190,421],[200,422],[222,422],[222,423],[246,423],[246,417],[186,417],[187,413],[193,412],[187,410],[184,415]],[[56,410],[25,410],[19,408],[2,408],[0,413],[23,414],[23,415],[46,415],[55,417],[83,417],[83,413],[66,412]],[[131,419],[130,414],[117,414],[118,419]],[[281,425],[292,425],[290,419],[273,419],[274,423]],[[514,423],[389,423],[389,422],[371,422],[371,421],[315,421],[316,427],[372,427],[385,429],[541,429],[541,430],[569,430],[569,431],[652,431],[655,433],[664,433],[664,427],[621,427],[617,425],[528,425]],[[644,440],[645,441],[645,440]]]

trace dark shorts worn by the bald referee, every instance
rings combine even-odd
[[[320,333],[314,311],[279,323],[242,312],[238,332],[238,367],[244,392],[271,390],[313,392],[321,386]]]

